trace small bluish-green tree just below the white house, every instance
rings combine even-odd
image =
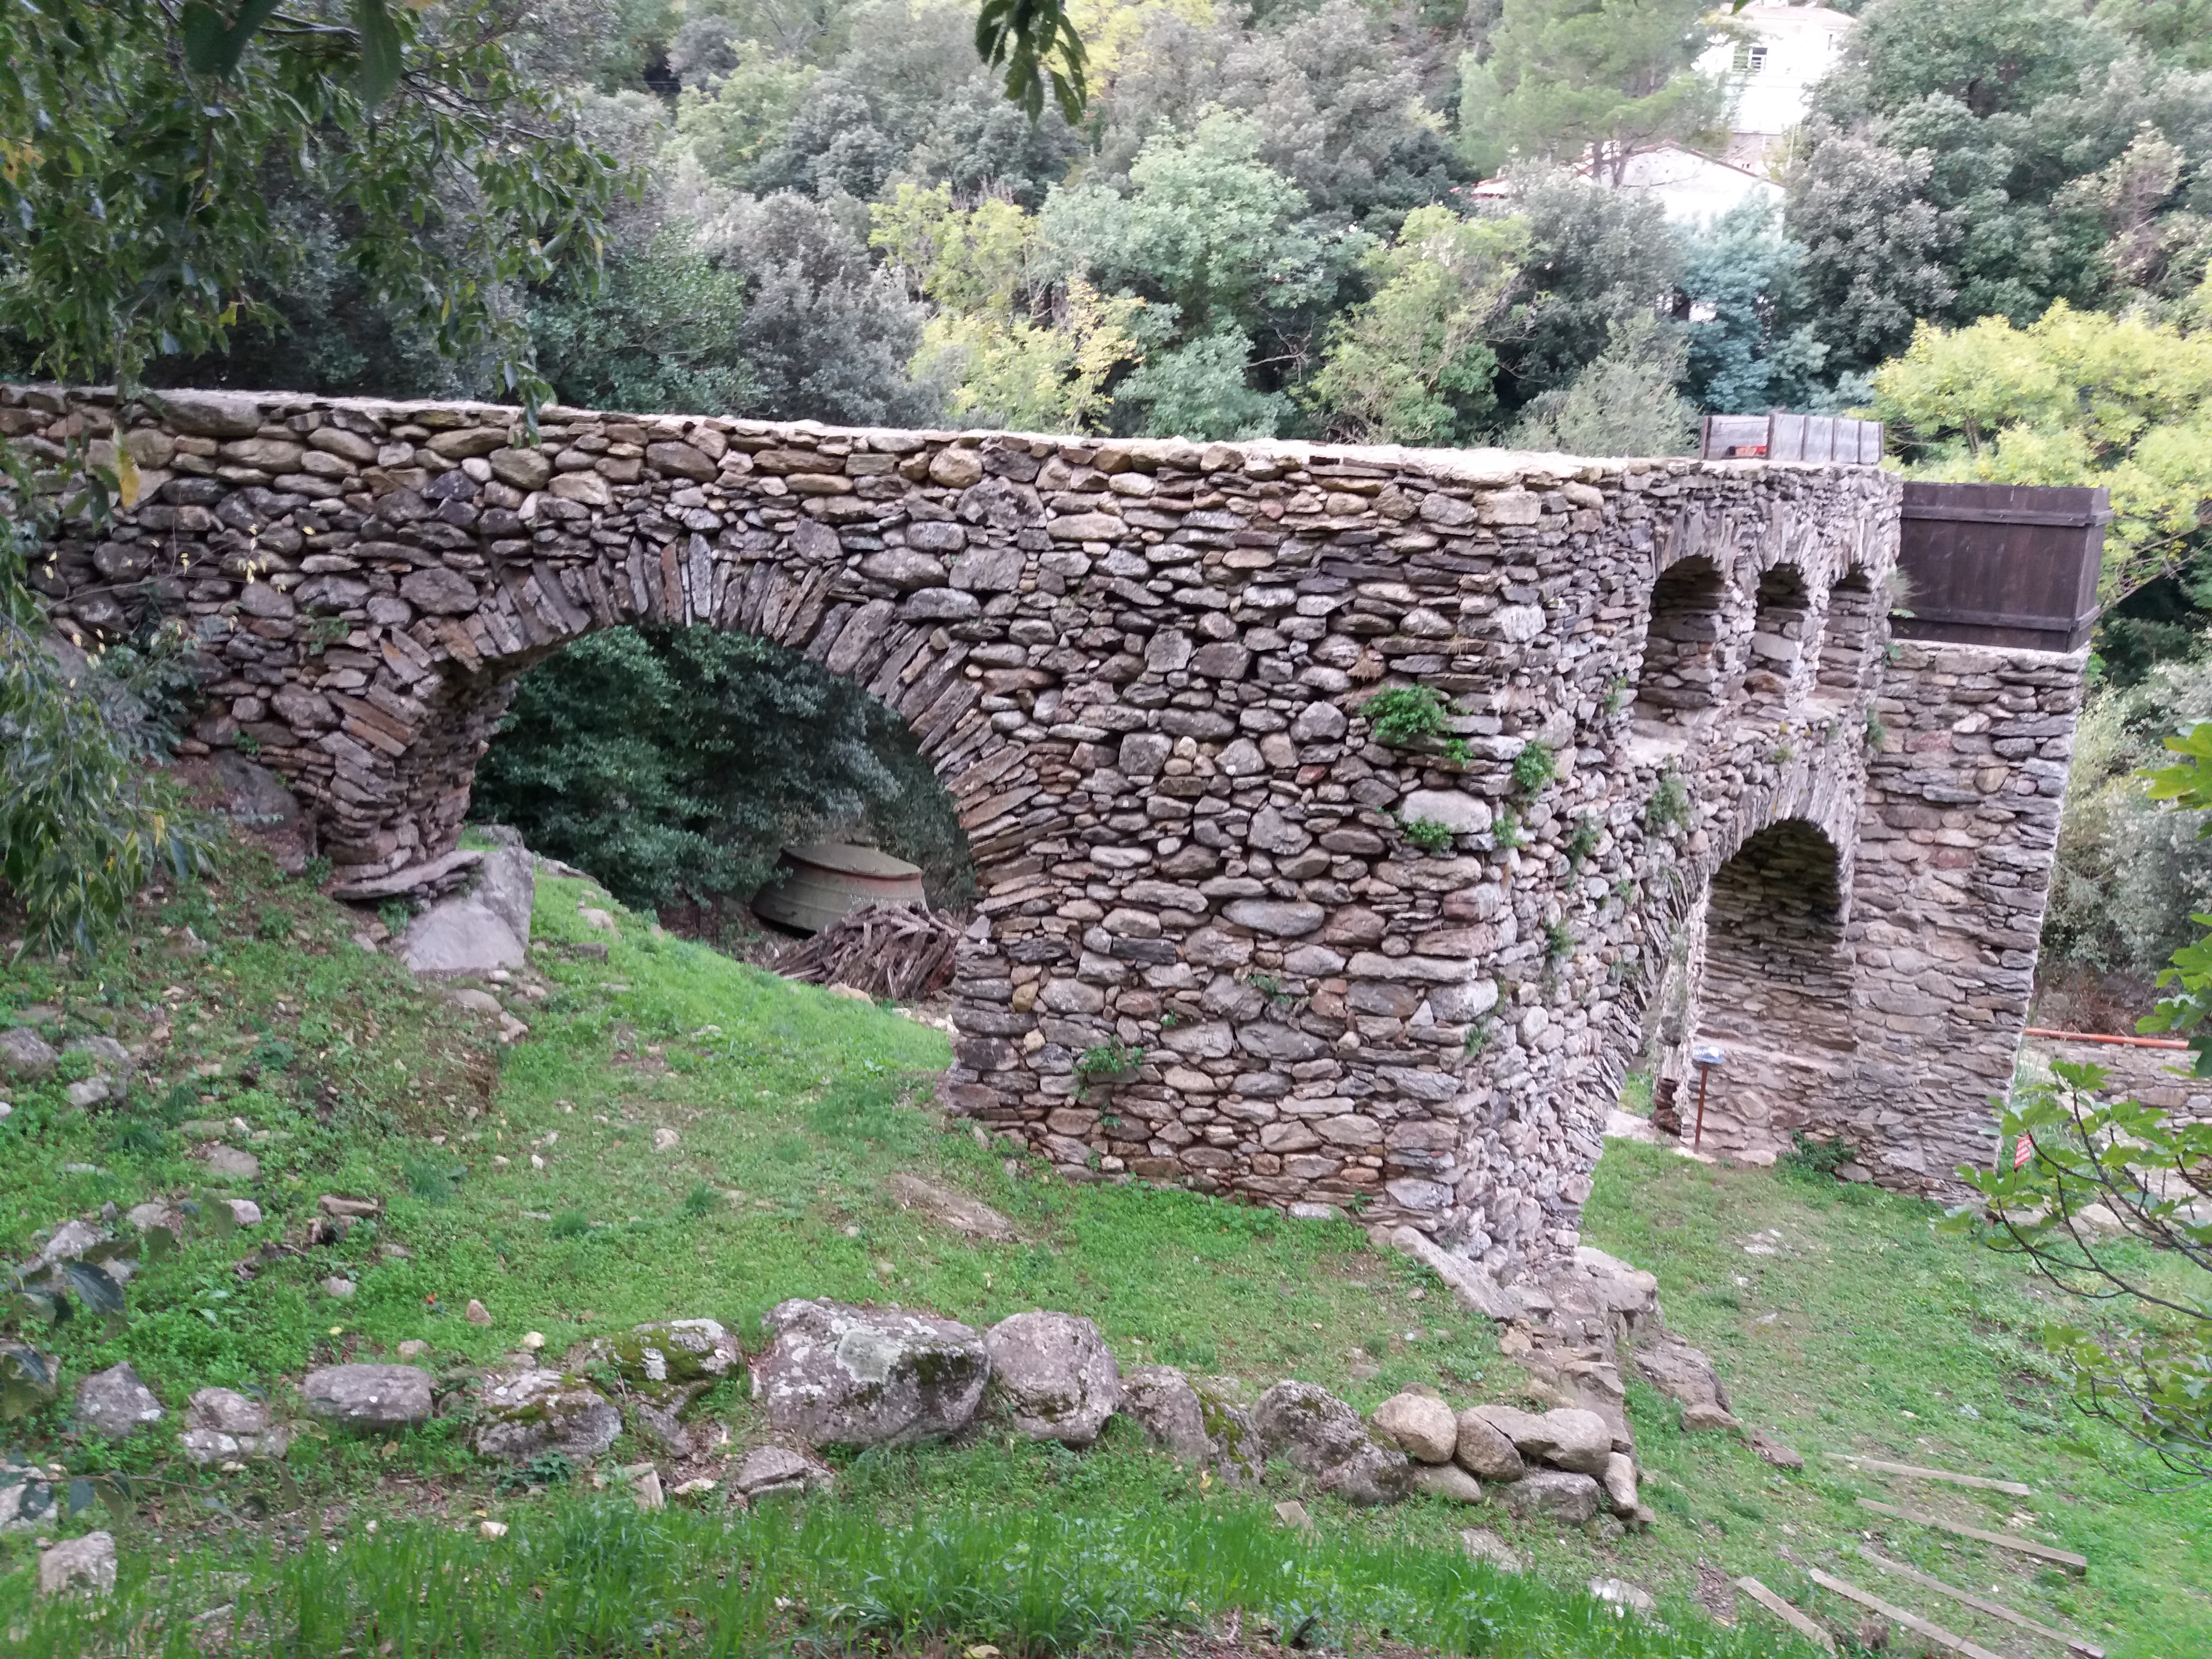
[[[1683,246],[1681,310],[1690,319],[1683,392],[1710,414],[1803,409],[1820,396],[1827,358],[1805,316],[1805,248],[1745,201]]]

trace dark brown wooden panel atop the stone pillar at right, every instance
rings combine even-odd
[[[1907,480],[1889,630],[1900,639],[2079,650],[2097,624],[2104,489]]]

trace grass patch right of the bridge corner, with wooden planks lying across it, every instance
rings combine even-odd
[[[1874,1188],[1606,1146],[1584,1239],[1657,1272],[1668,1323],[1714,1358],[1736,1416],[1805,1455],[1803,1473],[1776,1473],[1723,1436],[1681,1433],[1668,1400],[1630,1385],[1637,1455],[1659,1475],[1648,1495],[1661,1524],[1639,1542],[1652,1575],[1703,1559],[1856,1621],[1781,1559],[1787,1548],[1947,1630],[2020,1650],[2008,1626],[1856,1559],[1871,1533],[1882,1555],[2073,1628],[2115,1659],[2212,1652],[2212,1500],[2152,1491],[2172,1484],[2157,1462],[2070,1409],[2035,1340],[2062,1316],[2057,1298],[2017,1261],[1940,1237],[1938,1214]],[[2143,1252],[2119,1250],[2157,1276]],[[2022,1480],[2035,1495],[1860,1475],[1829,1451]],[[1896,1522],[1860,1495],[2057,1544],[2090,1571],[2075,1579]]]

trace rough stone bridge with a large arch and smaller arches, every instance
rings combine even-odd
[[[1708,1150],[1993,1150],[2079,655],[1893,641],[1869,467],[838,431],[307,396],[9,389],[139,469],[38,582],[219,664],[341,896],[438,867],[515,677],[597,628],[849,675],[960,805],[980,902],[942,1099],[1068,1175],[1575,1228],[1657,1053]],[[1433,688],[1447,730],[1363,712]],[[1086,1086],[1077,1060],[1144,1048]]]

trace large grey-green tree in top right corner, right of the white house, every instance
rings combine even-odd
[[[2170,305],[2194,288],[2212,75],[2154,60],[2119,18],[2066,0],[1867,9],[1790,179],[1832,369],[1905,349],[1916,319],[2026,325],[2057,299]]]

